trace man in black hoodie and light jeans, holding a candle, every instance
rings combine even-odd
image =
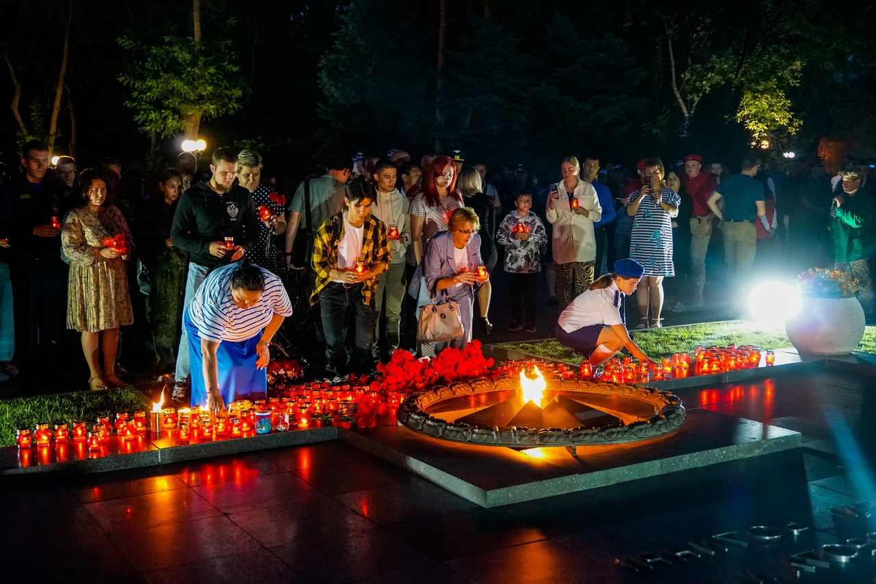
[[[180,196],[173,216],[173,245],[189,253],[184,306],[213,268],[240,260],[248,249],[258,245],[258,217],[248,189],[237,177],[237,152],[219,148],[213,153],[210,178],[197,182]],[[187,400],[189,377],[188,335],[182,327],[180,350],[176,357],[176,384],[173,401]]]

